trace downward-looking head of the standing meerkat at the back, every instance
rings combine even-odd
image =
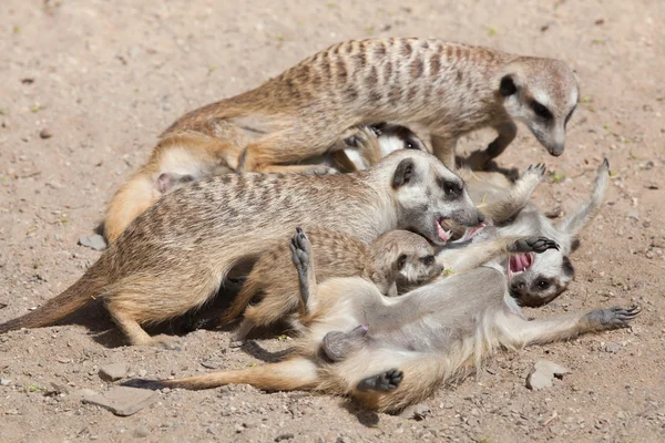
[[[573,71],[559,60],[519,58],[507,65],[498,87],[505,112],[524,123],[550,154],[561,155],[580,95]]]

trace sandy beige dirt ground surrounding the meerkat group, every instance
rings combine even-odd
[[[0,337],[0,441],[616,441],[665,440],[665,19],[663,2],[423,0],[252,2],[4,0],[0,16],[0,321],[40,306],[100,255],[78,246],[116,187],[184,112],[258,85],[339,40],[420,35],[565,60],[582,100],[566,151],[550,157],[524,127],[500,157],[546,162],[534,196],[570,212],[603,157],[606,204],[581,235],[574,281],[552,316],[638,303],[632,329],[499,353],[406,419],[341,398],[245,385],[161,392],[126,418],[81,402],[99,369],[182,377],[262,364],[288,339],[231,348],[229,332],[175,337],[181,350],[123,347],[94,306],[64,326]],[[467,151],[490,133],[464,141]],[[2,306],[2,305],[0,305]],[[174,328],[166,328],[170,332]],[[525,388],[533,363],[571,372]]]

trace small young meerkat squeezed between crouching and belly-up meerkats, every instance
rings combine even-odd
[[[390,230],[366,245],[352,236],[328,229],[313,229],[309,239],[317,250],[317,281],[335,277],[362,277],[386,296],[397,296],[398,284],[421,285],[443,270],[434,259],[434,248],[424,237],[407,230]],[[300,292],[290,269],[289,247],[278,241],[252,268],[241,291],[224,312],[222,323],[245,312],[236,332],[244,340],[255,327],[267,327],[296,312]],[[249,305],[260,295],[260,301]],[[299,330],[297,316],[290,328]]]

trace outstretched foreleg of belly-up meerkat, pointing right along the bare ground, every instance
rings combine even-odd
[[[511,344],[524,347],[563,341],[583,333],[627,328],[641,309],[613,307],[586,313],[566,315],[543,320],[526,320],[510,315],[504,324]]]

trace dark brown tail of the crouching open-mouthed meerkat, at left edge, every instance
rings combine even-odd
[[[0,333],[21,328],[42,328],[54,324],[85,306],[99,293],[102,284],[94,277],[83,276],[58,297],[48,300],[39,309],[0,324]]]

